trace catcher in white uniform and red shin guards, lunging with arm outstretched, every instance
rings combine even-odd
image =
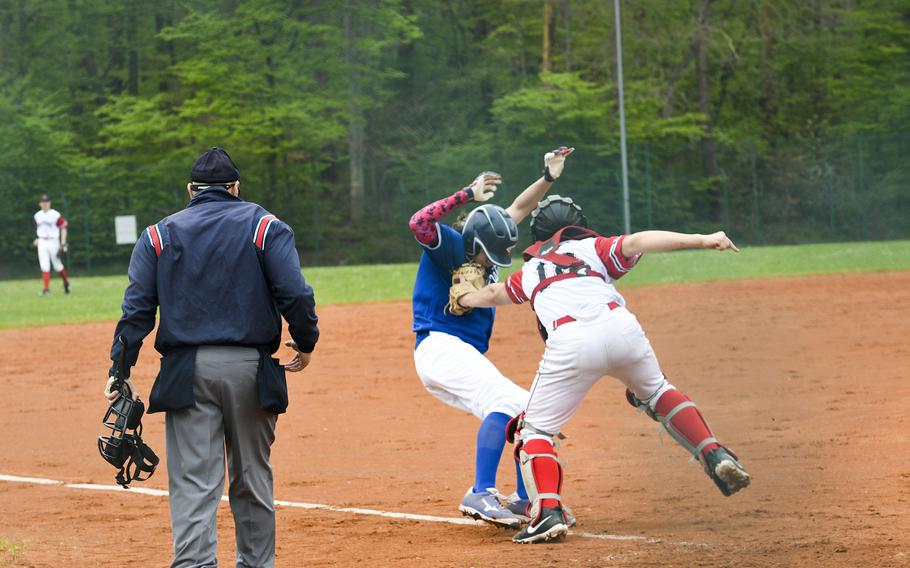
[[[560,492],[562,465],[553,438],[604,375],[626,386],[627,400],[697,459],[724,495],[748,486],[751,477],[720,445],[695,404],[670,384],[651,343],[613,282],[643,253],[685,248],[738,249],[723,232],[689,235],[643,231],[602,237],[571,199],[553,195],[532,213],[537,242],[524,251],[525,264],[502,284],[459,298],[465,307],[530,303],[546,350],[525,413],[510,424],[510,439],[531,499],[531,522],[512,540],[560,539],[568,532]]]

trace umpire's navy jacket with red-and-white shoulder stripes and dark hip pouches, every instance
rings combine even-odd
[[[300,274],[290,227],[255,203],[209,187],[142,233],[129,278],[111,359],[120,354],[116,338],[122,334],[129,345],[126,363],[136,364],[160,306],[155,349],[161,372],[149,412],[193,406],[199,345],[257,348],[260,406],[285,411],[284,367],[271,358],[281,342],[281,316],[304,353],[319,339],[313,289]]]

